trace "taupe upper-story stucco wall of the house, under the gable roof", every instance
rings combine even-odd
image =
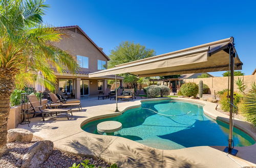
[[[85,36],[69,30],[63,30],[63,32],[69,36],[62,36],[62,40],[55,45],[74,55],[75,59],[76,55],[88,57],[89,68],[83,68],[83,70],[98,71],[98,60],[106,61],[106,64],[108,64],[108,59]]]

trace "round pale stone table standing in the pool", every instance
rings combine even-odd
[[[114,135],[115,131],[122,129],[122,123],[118,121],[104,121],[97,125],[97,131],[99,134],[104,132],[107,135]]]

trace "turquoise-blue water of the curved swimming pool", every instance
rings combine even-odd
[[[97,124],[118,121],[122,129],[115,136],[132,139],[158,149],[195,146],[227,146],[228,124],[203,114],[199,104],[174,100],[146,101],[141,107],[126,110],[121,116],[90,122],[83,130],[97,133]],[[245,132],[233,129],[234,146],[249,146],[255,141]]]

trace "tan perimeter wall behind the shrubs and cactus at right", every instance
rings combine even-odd
[[[244,75],[244,76],[234,76],[236,81],[238,78],[243,78],[247,86],[247,90],[251,88],[251,82],[256,82],[256,75]],[[228,77],[207,77],[207,78],[193,78],[193,79],[184,79],[185,82],[195,82],[199,83],[200,80],[203,80],[203,83],[208,85],[209,93],[214,94],[214,91],[218,92],[223,89],[228,88]],[[234,84],[234,91],[239,91],[237,85]]]

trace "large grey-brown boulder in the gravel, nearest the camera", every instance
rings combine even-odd
[[[51,155],[53,142],[39,141],[32,145],[23,157],[22,168],[39,167]]]

